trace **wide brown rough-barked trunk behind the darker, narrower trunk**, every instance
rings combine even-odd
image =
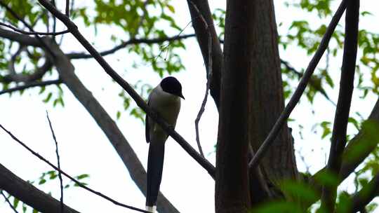
[[[251,69],[249,78],[249,132],[253,150],[257,151],[284,109],[278,51],[277,24],[272,0],[258,0],[251,15]],[[268,181],[295,179],[298,174],[293,142],[287,125],[261,161],[262,172]]]

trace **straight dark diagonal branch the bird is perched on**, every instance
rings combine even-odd
[[[77,29],[76,25],[74,25],[74,23],[71,20],[69,20],[67,16],[63,15],[62,13],[60,13],[60,11],[56,10],[55,7],[46,0],[39,0],[39,3],[43,5],[46,9],[48,9],[48,11],[53,13],[53,15],[55,15],[56,18],[61,20],[66,25],[66,27],[70,30],[72,35],[74,35],[75,38],[77,38],[79,43],[81,43],[81,45],[84,46],[84,48],[86,48],[86,50],[88,50],[88,52],[91,53],[91,55],[93,55],[95,60],[98,61],[98,63],[105,70],[105,72],[109,76],[111,76],[114,81],[121,85],[121,87],[124,88],[124,90],[126,90],[126,92],[128,92],[129,95],[131,95],[131,97],[137,103],[138,107],[145,111],[149,118],[152,118],[153,121],[159,123],[159,125],[161,125],[161,127],[168,133],[168,135],[175,139],[175,141],[178,142],[178,144],[180,144],[180,146],[182,146],[182,148],[185,149],[185,151],[187,151],[187,153],[189,153],[189,155],[192,156],[192,158],[194,158],[194,160],[196,160],[197,163],[199,163],[202,167],[204,167],[205,170],[207,170],[209,174],[211,174],[211,177],[215,177],[215,167],[211,163],[209,163],[208,160],[201,157],[199,153],[197,153],[197,151],[194,150],[192,146],[190,146],[188,142],[186,142],[185,139],[178,134],[178,132],[175,132],[175,130],[173,130],[171,126],[167,125],[166,121],[164,121],[163,118],[159,117],[157,113],[152,111],[152,109],[149,106],[147,106],[146,102],[142,99],[142,97],[140,97],[140,95],[138,95],[138,93],[135,92],[133,87],[131,87],[131,85],[129,85],[123,78],[121,78],[121,76],[119,76],[119,74],[117,74],[116,71],[114,71],[114,69],[112,69],[112,67],[110,67],[110,65],[104,60],[100,53],[98,53],[98,51],[95,50],[93,46],[91,46],[91,43],[89,43],[84,38],[84,36]]]

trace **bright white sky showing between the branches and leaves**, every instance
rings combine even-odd
[[[279,1],[276,1],[279,2]],[[225,1],[211,1],[212,8],[223,7]],[[78,4],[84,4],[83,2]],[[285,32],[286,24],[291,20],[301,20],[308,15],[292,11],[276,4],[277,22],[284,22],[279,28],[280,32]],[[335,11],[334,7],[332,10]],[[185,27],[189,22],[189,13],[185,1],[175,2],[175,20],[179,26]],[[371,31],[379,33],[378,25],[373,25],[373,20],[378,21],[378,5],[375,1],[362,1],[361,11],[371,11],[376,16],[361,20],[361,26]],[[374,21],[374,23],[376,23]],[[98,50],[105,50],[112,46],[111,41],[102,39],[102,35],[107,32],[99,30],[98,38],[94,38],[91,29],[81,27],[81,32],[85,34],[89,41],[94,41]],[[109,30],[109,29],[107,29]],[[113,30],[113,29],[112,29]],[[191,33],[192,27],[187,27],[184,34]],[[62,46],[65,52],[82,50],[81,46],[72,38],[67,36],[69,41]],[[195,39],[185,41],[187,50],[181,51],[182,62],[186,70],[175,74],[182,83],[185,101],[182,102],[182,109],[178,118],[176,130],[187,142],[197,147],[194,134],[194,119],[197,116],[205,90],[205,68]],[[288,60],[297,69],[305,68],[310,60],[301,50],[289,48],[281,50],[281,57]],[[301,57],[301,60],[299,60]],[[149,65],[140,67],[138,70],[131,69],[133,57],[126,55],[122,50],[116,54],[106,57],[109,64],[119,73],[122,73],[126,81],[135,83],[142,79],[145,83],[156,85],[160,78],[157,74],[149,71]],[[331,62],[331,70],[335,68],[333,77],[339,76],[340,58]],[[109,77],[95,62],[95,60],[74,61],[77,75],[84,82],[86,87],[98,98],[100,104],[107,112],[116,118],[116,112],[122,109],[122,102],[118,94],[120,88],[112,83]],[[127,70],[126,72],[124,72]],[[338,81],[335,89],[330,90],[331,98],[336,102],[338,95]],[[77,102],[71,92],[65,86],[65,107],[52,107],[52,104],[41,102],[45,95],[38,96],[39,89],[27,90],[20,96],[13,94],[1,95],[0,123],[8,130],[11,130],[16,137],[25,142],[34,151],[55,163],[55,145],[51,138],[51,133],[46,120],[46,110],[48,110],[55,135],[58,138],[62,170],[72,176],[78,174],[90,174],[86,179],[89,186],[96,191],[100,191],[119,202],[124,202],[135,207],[145,207],[145,197],[135,186],[129,177],[126,167],[121,162],[119,156],[114,151],[98,125],[87,111]],[[46,90],[55,90],[47,88]],[[47,93],[46,93],[47,94]],[[357,95],[356,95],[357,96]],[[367,116],[375,103],[376,97],[368,97],[364,101],[354,97],[352,111],[357,111]],[[311,113],[314,109],[314,114]],[[333,121],[334,108],[323,97],[317,95],[313,107],[302,98],[301,104],[295,108],[291,118],[295,122],[289,125],[294,129],[296,149],[302,152],[308,165],[312,165],[311,172],[324,167],[325,151],[328,151],[328,141],[320,139],[320,132],[315,135],[311,131],[314,123],[328,120]],[[303,139],[299,137],[298,124],[304,126],[302,132]],[[130,118],[127,113],[121,116],[117,125],[124,132],[126,139],[133,146],[141,162],[147,164],[148,144],[145,142],[145,130],[141,121]],[[214,164],[215,153],[214,144],[217,137],[218,114],[213,104],[213,99],[208,99],[206,111],[200,121],[201,144],[208,160]],[[350,128],[354,132],[354,128]],[[0,132],[0,162],[12,172],[25,180],[36,180],[42,172],[51,170],[38,158],[32,156],[19,144],[13,142],[4,132]],[[324,150],[324,151],[323,151]],[[303,163],[298,159],[298,167],[305,170]],[[64,179],[67,184],[67,179]],[[45,192],[52,191],[55,198],[59,198],[58,179],[48,184],[39,186]],[[161,184],[161,191],[171,200],[173,205],[180,212],[214,212],[214,181],[208,173],[189,157],[181,147],[171,138],[166,143],[166,156],[164,163],[164,177]],[[0,198],[0,212],[11,212],[6,203]],[[117,207],[107,200],[103,200],[96,195],[88,193],[81,188],[69,188],[65,191],[65,203],[79,212],[133,212],[123,207]]]

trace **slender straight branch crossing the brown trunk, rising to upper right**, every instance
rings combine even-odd
[[[340,6],[338,7],[338,10],[335,12],[335,15],[333,15],[331,23],[329,24],[328,29],[326,29],[326,32],[323,38],[321,39],[319,48],[317,49],[316,53],[314,53],[314,56],[312,57],[310,64],[305,70],[304,76],[302,76],[298,84],[298,88],[295,90],[295,92],[293,92],[290,101],[288,102],[284,110],[281,112],[277,122],[270,131],[269,135],[267,135],[265,141],[262,143],[257,153],[255,153],[254,158],[251,159],[251,161],[248,163],[249,167],[255,167],[256,165],[258,165],[262,157],[270,148],[271,144],[274,142],[274,139],[277,138],[277,135],[279,134],[281,127],[287,121],[287,118],[290,116],[291,112],[293,111],[293,108],[295,108],[296,104],[298,104],[300,97],[302,96],[302,92],[304,92],[305,88],[307,87],[307,83],[310,81],[314,69],[316,69],[317,64],[319,64],[322,55],[328,47],[328,43],[331,40],[331,36],[333,35],[334,29],[338,25],[338,21],[340,20],[341,16],[343,15],[343,12],[345,11],[346,4],[347,0],[343,0]]]

